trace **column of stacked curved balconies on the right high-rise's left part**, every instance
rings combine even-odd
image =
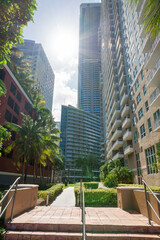
[[[125,48],[124,22],[121,17],[121,1],[102,0],[102,72],[105,101],[105,160],[123,159],[123,141],[126,131],[128,144],[132,133],[128,92],[130,79],[127,74],[127,52]]]

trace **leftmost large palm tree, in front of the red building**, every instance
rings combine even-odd
[[[6,126],[17,133],[17,138],[6,147],[5,151],[9,153],[12,149],[15,149],[14,159],[16,159],[18,167],[22,163],[22,179],[24,182],[30,162],[39,158],[44,148],[44,128],[40,122],[34,122],[30,116],[25,114],[23,114],[22,126],[14,123],[6,123]]]

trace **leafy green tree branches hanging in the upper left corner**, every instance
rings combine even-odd
[[[10,50],[23,42],[23,27],[33,21],[36,0],[0,0],[0,67],[10,59]]]

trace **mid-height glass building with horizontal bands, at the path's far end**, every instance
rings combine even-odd
[[[83,176],[82,170],[76,167],[76,160],[80,157],[92,155],[100,159],[100,133],[101,123],[98,116],[72,106],[62,106],[60,147],[64,155],[64,176],[70,181],[87,178]],[[99,171],[93,171],[93,177],[98,176]]]

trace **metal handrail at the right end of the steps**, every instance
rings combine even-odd
[[[149,213],[149,206],[150,208],[153,210],[154,214],[156,215],[156,217],[158,218],[158,220],[160,221],[160,217],[158,216],[158,214],[156,213],[154,207],[152,206],[152,204],[150,203],[150,201],[148,200],[147,197],[147,188],[149,189],[149,191],[152,193],[152,196],[157,200],[158,204],[160,204],[160,200],[157,198],[156,194],[150,189],[150,187],[147,185],[147,183],[142,180],[143,184],[144,184],[144,190],[145,190],[145,197],[146,197],[146,204],[147,204],[147,213],[148,213],[148,223],[149,225],[151,225],[151,217],[150,217],[150,213]],[[147,188],[146,188],[147,187]]]

